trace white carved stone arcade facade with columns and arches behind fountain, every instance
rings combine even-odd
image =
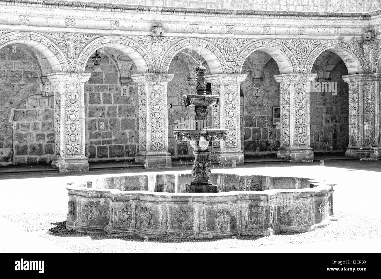
[[[375,6],[378,2],[365,1],[361,7],[346,2],[346,7],[336,7],[335,1],[314,1],[319,3],[310,5],[311,1],[295,0],[288,8],[286,1],[273,1],[271,8],[267,4],[260,6],[282,12],[235,10],[255,5],[234,1],[229,2],[229,7],[222,2],[213,6],[212,2],[202,1],[205,7],[199,8],[192,8],[199,1],[157,1],[154,6],[84,2],[0,1],[0,48],[27,45],[40,51],[50,63],[52,73],[47,77],[52,83],[55,111],[52,165],[59,171],[88,169],[84,86],[90,74],[85,66],[94,52],[104,47],[118,49],[136,65],[138,74],[131,77],[139,88],[136,160],[146,167],[171,165],[167,84],[173,78],[170,63],[184,49],[205,59],[210,71],[207,81],[213,93],[220,94],[219,107],[212,111],[212,125],[230,132],[225,142],[213,146],[211,158],[221,164],[244,162],[239,125],[240,83],[246,78],[244,62],[255,51],[267,53],[279,67],[275,79],[281,89],[280,158],[313,159],[308,83],[315,77],[312,67],[316,58],[327,50],[337,54],[348,70],[344,77],[350,95],[347,155],[377,153],[381,14],[374,10],[379,10]],[[141,2],[148,5],[147,1]],[[313,8],[303,8],[307,6]],[[324,6],[332,7],[336,13],[311,12],[328,11],[317,8]],[[292,12],[291,7],[300,12]],[[338,13],[343,10],[348,13]],[[10,102],[5,102],[0,107],[1,117],[9,119],[12,108]],[[6,148],[1,149],[6,152]]]

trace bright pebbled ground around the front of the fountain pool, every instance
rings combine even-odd
[[[110,237],[107,234],[85,234],[65,229],[66,213],[5,215],[25,231],[38,232],[39,237],[52,241],[73,252],[206,252],[208,250],[245,248],[274,244],[306,244],[327,241],[381,238],[381,219],[337,212],[338,221],[330,226],[307,233],[287,233],[270,237],[236,239],[171,240],[124,236]],[[48,230],[48,233],[44,233]],[[202,242],[200,244],[199,242]]]

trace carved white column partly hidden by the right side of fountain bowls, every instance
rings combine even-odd
[[[219,95],[219,103],[212,107],[212,128],[229,129],[226,140],[213,142],[210,161],[225,164],[243,164],[241,149],[241,82],[247,74],[224,73],[205,76],[212,84],[212,94]]]

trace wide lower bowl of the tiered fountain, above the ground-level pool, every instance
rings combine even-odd
[[[226,139],[229,129],[174,129],[174,138],[177,141],[207,141]]]

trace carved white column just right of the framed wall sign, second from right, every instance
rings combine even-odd
[[[310,147],[309,94],[313,73],[274,75],[280,83],[280,148],[278,158],[312,162]]]

